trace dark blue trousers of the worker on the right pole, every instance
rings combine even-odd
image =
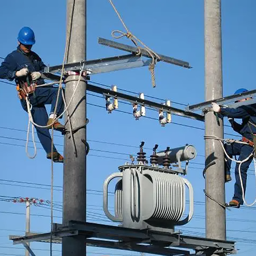
[[[242,161],[248,156],[250,156],[250,154],[253,151],[253,147],[245,144],[240,144],[240,143],[225,144],[225,149],[229,157],[232,158],[233,156],[239,156],[238,158],[239,161]],[[252,162],[252,159],[253,157],[251,157],[248,161],[241,164],[241,168],[240,168],[243,187],[244,187],[244,194],[246,189],[247,170],[249,168],[249,165]],[[239,164],[236,163],[236,168],[235,168],[236,183],[235,183],[235,193],[234,193],[233,199],[238,201],[241,205],[243,205],[244,201],[242,196],[242,187],[241,187],[238,167],[239,167]],[[230,175],[230,168],[231,168],[231,160],[226,159],[225,161],[226,174]]]

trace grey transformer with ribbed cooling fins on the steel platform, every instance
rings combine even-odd
[[[143,152],[143,145],[144,143],[141,143],[140,153]],[[191,220],[194,211],[194,199],[190,182],[177,175],[186,174],[187,167],[186,170],[182,171],[180,167],[173,169],[169,168],[169,165],[181,160],[188,162],[188,160],[195,158],[196,150],[191,145],[175,150],[167,148],[164,151],[164,156],[162,156],[162,152],[159,152],[159,156],[159,153],[156,153],[156,148],[155,146],[150,159],[152,165],[144,164],[145,161],[142,162],[139,156],[143,156],[144,160],[146,156],[141,154],[137,159],[140,160],[138,164],[126,163],[119,166],[120,172],[111,174],[105,180],[103,209],[110,220],[121,222],[124,228],[148,228],[173,233],[174,226],[184,225]],[[186,152],[180,152],[182,150]],[[178,155],[177,152],[179,152]],[[182,157],[177,159],[173,154]],[[161,165],[165,164],[165,166],[156,164],[156,159],[158,163],[161,162]],[[166,167],[167,164],[168,168]],[[112,215],[108,210],[108,185],[111,180],[118,177],[121,179],[116,183],[115,215]],[[184,218],[186,187],[188,188],[189,211]]]

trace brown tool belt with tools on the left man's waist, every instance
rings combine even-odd
[[[19,77],[15,79],[16,83],[16,90],[18,91],[18,97],[20,100],[26,99],[30,94],[33,93],[34,97],[35,91],[36,91],[36,85],[37,83],[32,80],[32,77],[30,74],[24,77]]]

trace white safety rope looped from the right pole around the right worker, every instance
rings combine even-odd
[[[246,200],[245,200],[244,186],[243,186],[242,176],[241,176],[241,165],[242,165],[243,163],[245,163],[246,161],[248,161],[248,160],[254,155],[254,154],[253,154],[253,153],[254,153],[254,149],[253,149],[252,153],[251,153],[247,158],[245,158],[245,159],[242,160],[242,161],[239,161],[239,160],[235,160],[235,159],[231,158],[230,156],[228,156],[228,153],[227,153],[227,151],[225,150],[223,141],[226,141],[226,142],[229,141],[229,142],[230,142],[231,140],[229,140],[229,139],[226,139],[226,140],[225,140],[225,139],[220,139],[220,138],[218,138],[218,137],[216,137],[216,136],[213,136],[213,135],[205,135],[205,136],[204,136],[204,139],[205,139],[205,140],[207,140],[207,139],[212,139],[212,140],[218,140],[218,141],[220,141],[220,145],[221,145],[221,147],[222,147],[222,149],[223,149],[223,151],[224,151],[224,154],[227,156],[227,158],[230,159],[231,161],[236,162],[237,164],[239,164],[239,166],[238,166],[238,172],[239,172],[239,178],[240,178],[240,183],[241,183],[241,188],[242,188],[242,198],[243,198],[244,204],[245,204],[246,206],[248,206],[248,207],[254,205],[254,204],[256,203],[256,198],[255,198],[255,200],[254,200],[254,202],[253,202],[252,204],[248,204],[248,203],[246,202]],[[232,140],[232,142],[249,145],[247,142],[243,142],[243,141],[240,141],[240,140]],[[254,171],[255,171],[255,180],[256,180],[256,160],[255,160],[254,157],[253,157],[253,161],[254,161]]]

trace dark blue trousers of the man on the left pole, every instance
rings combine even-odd
[[[62,89],[63,90],[63,89]],[[33,94],[29,95],[29,101],[32,105],[31,114],[33,120],[36,124],[45,126],[48,122],[48,114],[44,105],[51,104],[51,112],[54,113],[56,101],[57,101],[58,88],[56,87],[38,87],[36,88],[34,97]],[[21,101],[22,108],[28,112],[26,100],[22,99]],[[64,102],[62,99],[61,91],[58,99],[58,105],[56,109],[56,114],[59,116],[64,110]],[[46,154],[52,152],[52,139],[47,128],[36,127],[36,133],[38,139],[40,140]],[[56,148],[53,145],[53,152],[56,152]]]

